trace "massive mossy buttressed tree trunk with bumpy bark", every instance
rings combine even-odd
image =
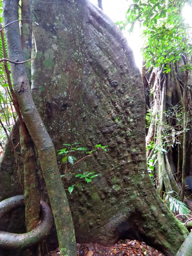
[[[77,241],[143,239],[175,255],[187,230],[148,177],[144,90],[125,38],[86,0],[35,1],[33,13],[39,26],[33,28],[38,58],[32,63],[32,93],[55,149],[73,142],[109,148],[73,169],[99,174],[68,195]],[[75,182],[68,175],[64,186]]]

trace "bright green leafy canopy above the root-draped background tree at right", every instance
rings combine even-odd
[[[130,32],[136,22],[142,26],[142,52],[147,67],[166,64],[164,73],[169,73],[170,62],[175,63],[182,54],[191,55],[190,28],[181,14],[185,4],[191,4],[191,0],[133,0],[126,21],[118,23],[120,28],[126,27]],[[188,68],[191,69],[191,65]]]

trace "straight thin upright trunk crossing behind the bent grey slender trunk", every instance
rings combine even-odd
[[[32,1],[21,2],[21,42],[23,58],[31,58],[32,49]],[[26,20],[28,19],[28,20]],[[31,83],[31,63],[26,62],[27,76]],[[25,133],[24,130],[25,129]],[[23,136],[23,134],[26,136]],[[38,168],[35,159],[35,149],[26,125],[20,127],[20,145],[23,160],[24,197],[25,197],[25,223],[27,232],[36,227],[40,220],[40,189],[38,184]],[[26,256],[40,255],[40,244],[26,251]]]

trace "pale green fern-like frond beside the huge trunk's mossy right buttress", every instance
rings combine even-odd
[[[179,196],[175,191],[163,192],[163,200],[168,205],[169,209],[172,212],[178,211],[179,214],[189,214],[190,211],[187,208],[186,204],[180,201]],[[172,195],[175,194],[177,197],[173,197]]]

